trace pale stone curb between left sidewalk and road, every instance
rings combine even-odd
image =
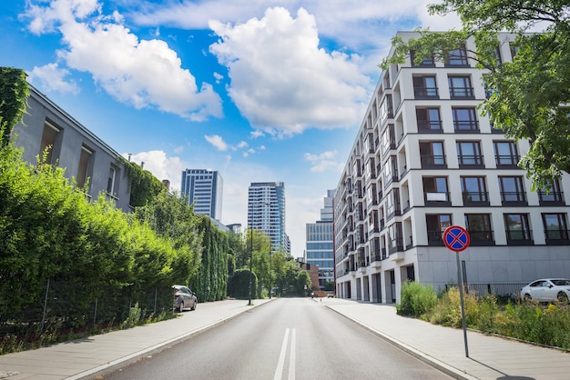
[[[255,304],[251,305],[251,308],[260,307],[262,305],[267,305],[272,300],[273,299],[270,299],[261,305],[255,305]],[[209,325],[202,326],[202,327],[198,328],[197,330],[190,331],[184,335],[179,335],[175,338],[169,339],[168,341],[159,343],[158,345],[152,345],[152,346],[145,348],[144,350],[138,351],[134,354],[121,357],[120,359],[117,359],[117,360],[113,360],[112,362],[109,362],[105,365],[99,365],[95,368],[89,369],[89,370],[81,372],[79,374],[69,376],[69,377],[67,377],[67,379],[79,380],[79,379],[87,379],[87,378],[96,378],[97,376],[102,376],[102,375],[106,375],[110,372],[113,372],[113,371],[117,370],[118,368],[122,368],[122,367],[127,366],[127,365],[132,365],[134,363],[137,363],[137,361],[139,361],[140,359],[142,359],[145,356],[158,354],[159,352],[163,351],[165,348],[168,348],[168,346],[170,346],[170,345],[178,345],[179,343],[184,342],[185,340],[187,340],[191,336],[204,333],[213,327],[225,324],[226,322],[232,320],[233,318],[235,318],[239,315],[242,315],[244,313],[248,313],[249,310],[251,310],[251,308],[246,309],[242,312],[239,312],[236,315],[231,315],[227,318],[220,319],[219,321],[213,322]],[[160,323],[160,322],[158,322],[158,323]]]

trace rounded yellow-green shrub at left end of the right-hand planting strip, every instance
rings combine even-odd
[[[396,305],[398,315],[420,316],[437,304],[437,294],[432,285],[406,281],[402,285],[402,303]]]

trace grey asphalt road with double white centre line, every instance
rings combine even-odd
[[[191,313],[199,313],[199,307]],[[284,298],[256,307],[97,378],[451,379],[306,298]]]

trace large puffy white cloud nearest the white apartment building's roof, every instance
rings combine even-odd
[[[350,55],[319,48],[315,19],[304,9],[295,19],[277,7],[262,19],[210,27],[220,36],[210,52],[228,66],[229,96],[254,128],[281,136],[360,121],[371,81]]]

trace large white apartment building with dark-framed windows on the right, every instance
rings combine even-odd
[[[497,59],[512,59],[511,40],[500,35]],[[487,94],[473,49],[382,73],[334,195],[338,296],[393,303],[406,280],[457,284],[456,255],[468,285],[570,276],[570,175],[531,190],[517,166],[528,142],[476,108]],[[443,244],[449,225],[470,235],[459,254]]]

